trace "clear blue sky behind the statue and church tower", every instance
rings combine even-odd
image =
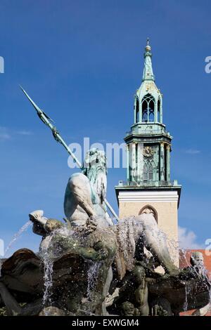
[[[174,137],[171,176],[183,185],[179,225],[191,246],[211,237],[210,10],[206,0],[1,0],[0,238],[6,245],[34,209],[63,218],[65,186],[75,172],[18,84],[68,143],[84,137],[122,143],[133,122],[147,37],[164,122]],[[124,178],[125,169],[108,172],[108,200],[116,210],[114,186]],[[39,240],[29,230],[11,252],[36,250]]]

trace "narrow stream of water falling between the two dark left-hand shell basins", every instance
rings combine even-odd
[[[52,286],[53,286],[53,261],[47,253],[44,256],[44,296],[43,305],[52,304]]]

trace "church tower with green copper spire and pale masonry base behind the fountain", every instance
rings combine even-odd
[[[127,152],[126,181],[115,187],[120,218],[153,213],[167,235],[178,264],[178,216],[181,185],[170,178],[172,136],[162,122],[162,93],[155,85],[151,46],[147,40],[143,79],[134,95],[134,124],[124,141]]]

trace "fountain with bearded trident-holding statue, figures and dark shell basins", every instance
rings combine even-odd
[[[30,102],[72,154],[49,117]],[[39,252],[20,249],[1,259],[1,314],[177,316],[194,309],[204,315],[210,282],[200,253],[179,270],[153,213],[113,223],[103,151],[89,150],[79,167],[65,190],[63,221],[44,217],[42,210],[29,215],[41,236]]]

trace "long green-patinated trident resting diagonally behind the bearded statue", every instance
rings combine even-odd
[[[65,141],[63,140],[63,138],[60,136],[60,134],[58,133],[58,131],[56,129],[56,126],[53,126],[53,124],[51,124],[51,122],[53,122],[53,120],[43,110],[39,109],[39,107],[30,98],[30,96],[23,89],[23,87],[20,86],[20,88],[22,89],[23,93],[25,93],[27,99],[30,100],[30,103],[32,103],[32,105],[33,105],[34,109],[37,111],[38,117],[41,119],[41,121],[43,121],[44,124],[46,124],[46,126],[49,126],[49,128],[51,129],[51,131],[53,133],[53,138],[55,138],[56,142],[60,143],[61,145],[63,145],[63,147],[65,147],[65,150],[67,150],[68,154],[70,154],[70,156],[74,159],[74,161],[76,162],[76,164],[82,170],[83,169],[83,166],[80,163],[80,161],[77,159],[77,157],[75,157],[75,154],[73,154],[73,152],[70,150],[70,148],[65,143]],[[108,203],[108,201],[107,201],[106,198],[104,198],[104,202],[105,202],[106,206],[108,206],[108,209],[110,209],[110,212],[113,213],[113,216],[119,221],[120,220],[119,217],[115,213],[113,207],[110,206],[110,204]]]

